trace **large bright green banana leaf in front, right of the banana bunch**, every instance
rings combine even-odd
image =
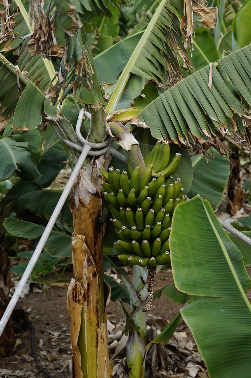
[[[239,249],[220,226],[207,200],[177,206],[170,232],[176,288],[210,296],[181,309],[211,378],[250,375],[251,288]]]

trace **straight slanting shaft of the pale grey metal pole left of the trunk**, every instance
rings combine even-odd
[[[82,119],[83,119],[83,116],[82,116]],[[81,121],[82,121],[81,119]],[[27,265],[26,267],[26,270],[24,271],[24,274],[23,276],[21,277],[19,283],[18,283],[18,286],[11,298],[11,301],[9,302],[8,304],[8,307],[6,308],[6,311],[5,313],[3,314],[3,317],[0,321],[0,336],[2,335],[2,332],[9,320],[9,317],[11,316],[11,313],[12,311],[14,310],[15,308],[15,305],[17,304],[17,301],[21,295],[21,292],[23,291],[23,288],[26,284],[26,282],[28,281],[29,279],[29,276],[35,266],[35,263],[37,262],[37,259],[44,247],[44,244],[46,243],[46,240],[48,239],[48,236],[50,234],[50,232],[52,231],[52,228],[58,218],[58,215],[60,214],[60,211],[61,209],[63,208],[63,205],[66,201],[66,198],[68,197],[68,194],[70,193],[70,190],[72,189],[72,186],[73,184],[75,183],[75,180],[76,178],[78,177],[78,174],[79,174],[79,171],[84,163],[84,160],[86,159],[86,156],[88,155],[89,151],[91,149],[91,145],[89,143],[85,144],[82,152],[81,152],[81,155],[75,165],[75,168],[73,169],[72,171],[72,174],[70,175],[70,178],[63,190],[63,193],[61,194],[61,197],[57,203],[57,206],[55,207],[54,209],[54,212],[52,213],[51,215],[51,218],[43,232],[43,235],[41,236],[39,242],[38,242],[38,245],[31,257],[31,260],[29,261],[29,264]]]

